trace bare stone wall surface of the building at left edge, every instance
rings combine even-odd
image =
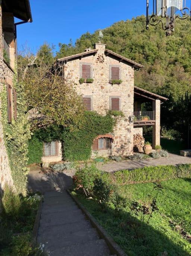
[[[1,5],[0,5],[0,93],[2,91],[3,86],[6,86],[5,84],[7,80],[9,81],[9,83],[12,83],[12,78],[13,78],[13,71],[3,61],[2,12],[1,12]],[[1,101],[0,101],[0,109],[1,109]],[[3,127],[1,123],[1,111],[0,111],[0,190],[3,190],[5,183],[13,185],[6,147],[3,139]]]

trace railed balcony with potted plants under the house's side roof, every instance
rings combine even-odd
[[[134,112],[134,127],[154,125],[154,123],[155,123],[154,111]]]

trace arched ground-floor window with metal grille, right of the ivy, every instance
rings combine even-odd
[[[110,156],[112,150],[111,138],[94,139],[93,156]]]

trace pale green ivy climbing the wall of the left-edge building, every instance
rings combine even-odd
[[[17,120],[13,118],[12,123],[7,122],[7,91],[4,85],[1,91],[1,122],[13,183],[17,193],[25,194],[26,175],[29,171],[28,140],[31,133],[26,117],[24,84],[17,81],[17,73],[13,78],[13,87],[17,92]]]

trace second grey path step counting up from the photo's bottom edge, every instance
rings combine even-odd
[[[54,248],[62,248],[64,246],[73,246],[75,244],[87,243],[99,239],[99,236],[94,228],[73,232],[72,234],[56,235],[52,234],[47,236],[46,232],[39,236],[38,242],[45,245],[45,250],[51,251]]]

